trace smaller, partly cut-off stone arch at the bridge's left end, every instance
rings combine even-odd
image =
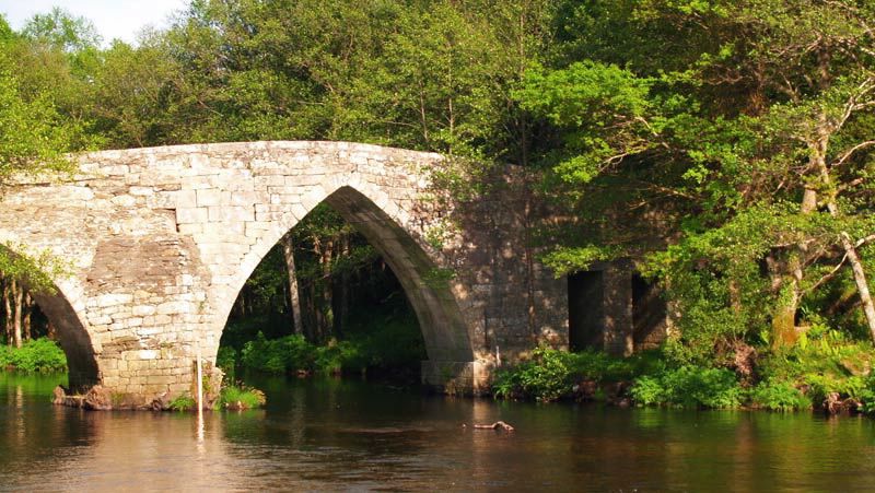
[[[2,250],[13,257],[20,253],[13,251],[9,246],[0,246]],[[28,289],[26,281],[24,287]],[[67,355],[69,386],[73,389],[89,388],[100,383],[100,369],[94,353],[91,334],[85,329],[86,325],[74,306],[78,296],[70,280],[55,280],[50,290],[31,291],[34,302],[39,306],[55,327],[58,342]]]

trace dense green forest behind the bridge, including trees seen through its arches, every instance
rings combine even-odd
[[[664,357],[735,367],[820,339],[870,362],[873,20],[868,0],[192,0],[136,46],[102,45],[59,10],[20,32],[0,20],[0,185],[63,168],[66,151],[190,142],[370,142],[475,175],[514,164],[573,218],[545,235],[557,275],[632,258],[661,285]],[[33,304],[21,259],[2,262],[14,343]],[[264,266],[235,316],[280,321],[249,336],[324,342],[357,305],[409,316],[330,210]]]

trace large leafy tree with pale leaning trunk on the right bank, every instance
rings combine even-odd
[[[552,263],[652,254],[641,267],[679,302],[682,337],[710,331],[700,354],[763,322],[774,344],[792,343],[806,296],[843,282],[844,263],[875,327],[858,255],[875,231],[873,7],[651,0],[564,11],[586,28],[567,32],[555,66],[517,93],[564,139],[545,157],[583,227]],[[618,221],[635,211],[644,222]],[[662,245],[641,242],[648,221],[667,231]]]

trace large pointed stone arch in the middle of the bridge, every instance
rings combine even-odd
[[[467,326],[448,283],[438,274],[439,263],[398,224],[398,221],[377,206],[376,201],[383,202],[385,197],[369,197],[360,191],[360,188],[369,190],[372,196],[380,193],[378,189],[366,185],[354,187],[337,184],[330,187],[330,192],[324,186],[317,187],[311,192],[310,203],[313,206],[306,212],[318,203],[329,204],[381,254],[398,278],[405,295],[413,307],[430,361],[474,361]],[[397,207],[394,209],[397,212]],[[303,219],[303,215],[277,223],[259,238],[249,255],[243,259],[228,295],[218,301],[220,304],[217,310],[218,319],[213,327],[219,331],[223,330],[234,300],[260,259],[298,224],[300,219]]]

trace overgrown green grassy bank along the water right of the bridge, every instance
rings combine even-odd
[[[742,348],[735,360],[710,365],[676,361],[665,349],[617,359],[539,348],[527,361],[500,369],[493,394],[539,401],[875,412],[875,349],[868,342],[827,330],[783,351]]]

